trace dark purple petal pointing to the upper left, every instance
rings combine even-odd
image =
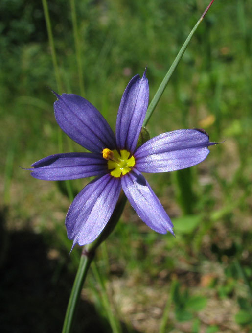
[[[55,94],[55,118],[61,129],[74,141],[92,152],[115,149],[115,135],[100,112],[85,98]]]

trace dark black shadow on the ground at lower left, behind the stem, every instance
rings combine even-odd
[[[1,210],[0,332],[61,332],[74,274],[63,263],[55,279],[59,262],[48,259],[43,236],[31,230],[7,234],[4,216]],[[80,302],[73,330],[81,332],[112,332],[106,319],[87,301]]]

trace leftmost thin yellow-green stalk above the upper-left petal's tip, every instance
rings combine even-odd
[[[72,18],[72,26],[73,26],[76,61],[77,61],[77,67],[78,67],[80,93],[82,96],[84,96],[84,81],[83,81],[82,60],[81,60],[81,47],[80,47],[80,39],[79,39],[79,32],[78,32],[78,26],[77,26],[77,18],[76,18],[74,0],[70,0],[70,7],[71,7],[71,18]]]

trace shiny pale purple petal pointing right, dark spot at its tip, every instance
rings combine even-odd
[[[163,133],[140,146],[134,154],[137,170],[167,172],[194,166],[209,153],[208,136],[199,130],[182,129]]]

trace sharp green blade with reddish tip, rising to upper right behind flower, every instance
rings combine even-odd
[[[202,22],[204,16],[206,15],[208,9],[211,7],[212,3],[214,2],[214,0],[212,0],[209,5],[206,7],[206,10],[204,11],[204,13],[202,14],[202,16],[200,17],[200,19],[198,20],[198,22],[194,25],[192,31],[190,32],[189,36],[186,38],[182,48],[180,49],[179,53],[177,54],[174,62],[172,63],[171,67],[169,68],[169,70],[167,71],[166,75],[164,76],[164,79],[162,80],[160,87],[158,89],[158,91],[156,92],[156,94],[154,95],[152,101],[149,104],[149,107],[147,109],[146,112],[146,116],[143,122],[143,126],[146,126],[146,124],[148,123],[153,111],[155,110],[161,95],[163,94],[173,72],[175,71],[175,69],[177,68],[181,58],[183,57],[184,51],[186,50],[188,44],[190,43],[192,36],[194,35],[195,31],[197,30],[199,24]]]

